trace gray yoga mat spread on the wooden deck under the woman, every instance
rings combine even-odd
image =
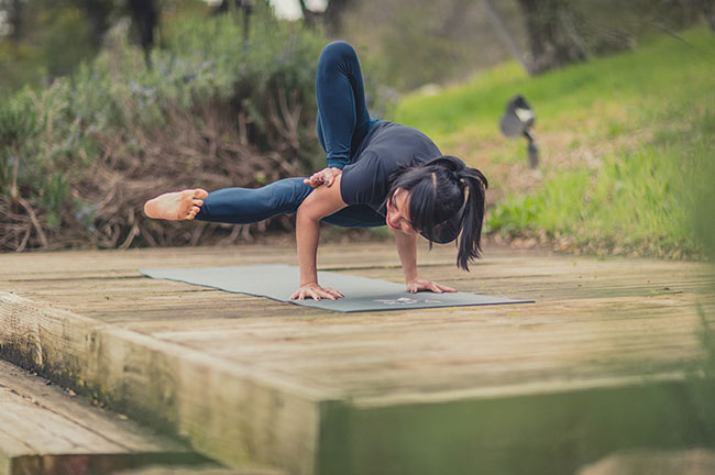
[[[198,268],[145,268],[141,274],[152,278],[178,280],[217,289],[268,297],[283,302],[340,312],[403,310],[431,307],[463,307],[503,303],[530,303],[532,300],[515,300],[477,294],[450,292],[409,294],[404,284],[355,277],[330,272],[318,272],[318,281],[332,287],[344,298],[329,300],[290,300],[298,289],[298,267],[285,264],[266,264],[232,267]]]

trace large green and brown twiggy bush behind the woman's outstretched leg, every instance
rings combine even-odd
[[[231,14],[182,20],[148,67],[120,24],[91,64],[3,101],[0,248],[196,243],[226,231],[158,225],[143,217],[145,199],[321,166],[314,78],[323,37],[260,2],[245,44],[241,25]]]

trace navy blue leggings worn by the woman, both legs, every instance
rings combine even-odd
[[[316,74],[318,139],[328,156],[328,166],[342,168],[376,121],[365,106],[362,73],[355,51],[345,42],[330,43],[322,49]],[[302,178],[285,178],[261,188],[224,188],[209,194],[196,219],[248,224],[267,218],[295,213],[312,187]],[[323,222],[346,228],[385,224],[372,208],[351,206]]]

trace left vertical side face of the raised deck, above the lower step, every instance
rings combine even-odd
[[[4,291],[0,357],[227,465],[315,473],[319,408],[305,388]]]

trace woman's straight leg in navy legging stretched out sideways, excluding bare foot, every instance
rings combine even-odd
[[[285,178],[261,188],[224,188],[204,199],[197,220],[248,224],[278,214],[289,214],[312,188],[302,178]]]

